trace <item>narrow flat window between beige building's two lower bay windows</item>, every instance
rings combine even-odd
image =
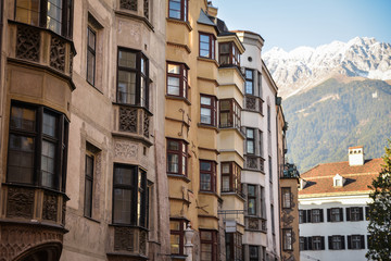
[[[91,153],[86,154],[85,163],[85,216],[92,217],[93,162]]]

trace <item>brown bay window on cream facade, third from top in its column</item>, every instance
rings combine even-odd
[[[222,162],[222,191],[241,194],[241,169],[235,162]]]

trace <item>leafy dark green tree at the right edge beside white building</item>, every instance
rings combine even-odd
[[[368,260],[391,260],[391,139],[388,140],[386,154],[382,157],[384,165],[379,176],[368,186],[373,191],[369,207],[369,247]]]

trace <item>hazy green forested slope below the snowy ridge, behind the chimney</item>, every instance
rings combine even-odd
[[[380,158],[391,137],[391,86],[366,79],[328,79],[283,101],[288,158],[301,172],[318,163],[346,161],[348,147],[363,145]]]

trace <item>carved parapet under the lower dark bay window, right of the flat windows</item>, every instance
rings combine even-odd
[[[135,226],[109,227],[109,260],[148,260],[148,231]]]

